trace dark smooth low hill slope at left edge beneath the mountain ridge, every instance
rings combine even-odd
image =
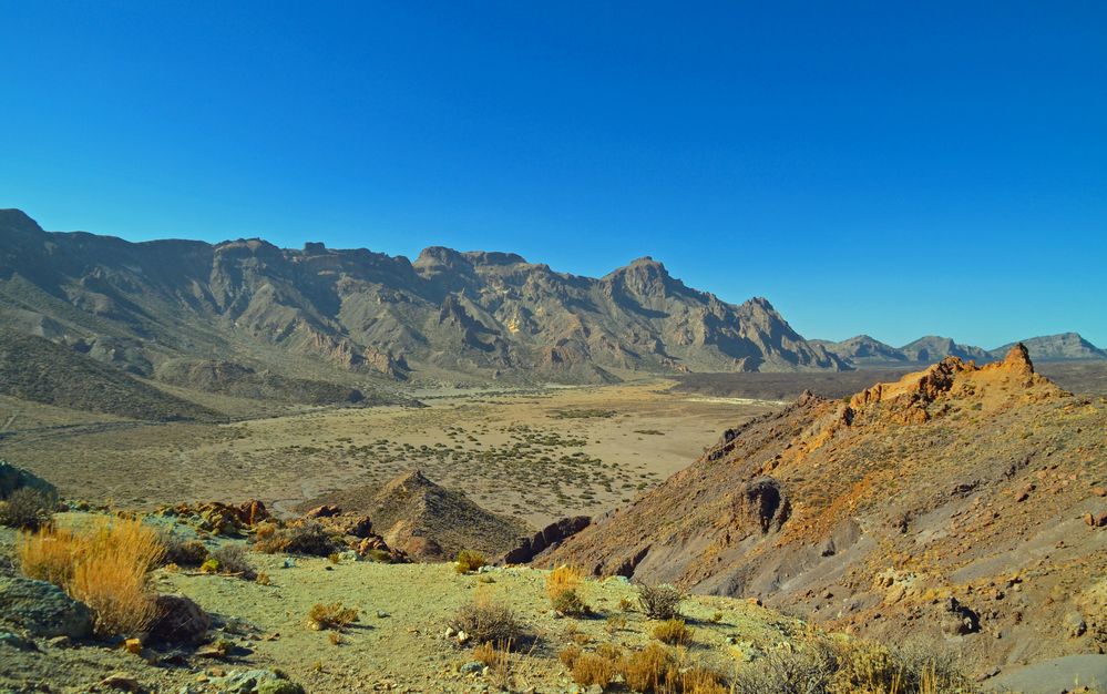
[[[0,394],[135,419],[219,418],[79,351],[7,330],[0,330]]]

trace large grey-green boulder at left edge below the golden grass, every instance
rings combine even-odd
[[[45,581],[0,576],[0,622],[33,636],[85,639],[92,633],[89,608]]]

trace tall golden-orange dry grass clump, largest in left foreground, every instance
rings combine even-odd
[[[59,585],[89,605],[98,636],[147,631],[157,618],[150,571],[165,549],[137,520],[112,519],[84,533],[42,529],[20,538],[22,572]]]

